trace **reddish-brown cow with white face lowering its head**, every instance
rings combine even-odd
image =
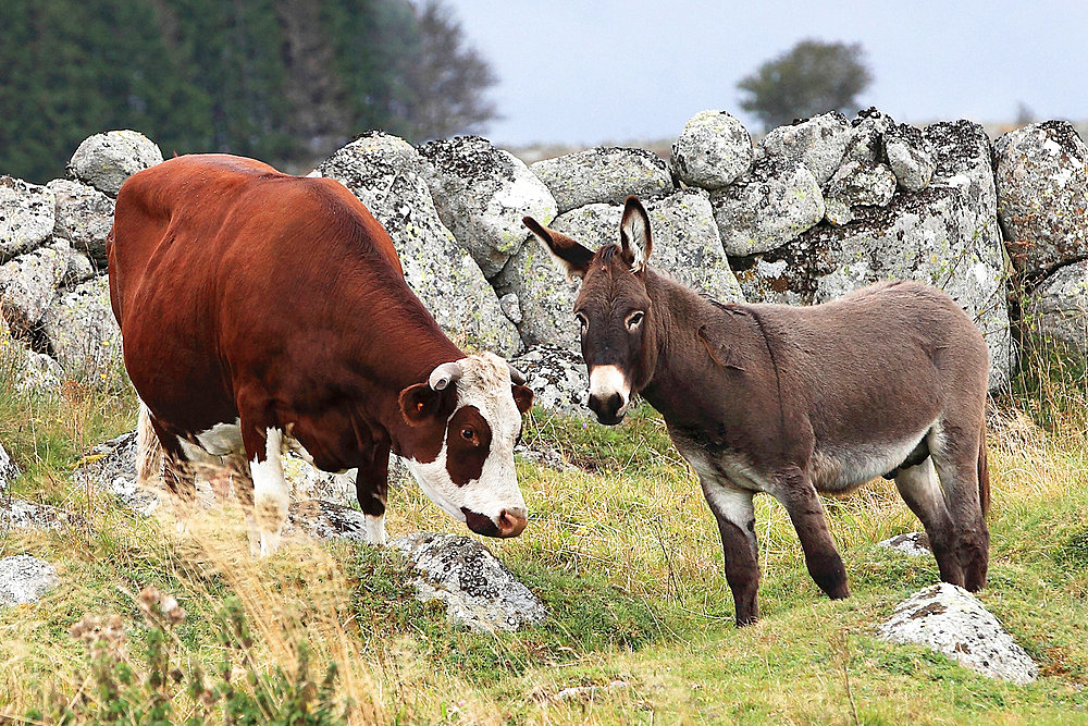
[[[472,531],[524,529],[514,446],[532,391],[442,332],[343,185],[224,155],[171,159],[125,182],[107,249],[125,367],[166,483],[191,501],[194,464],[227,457],[255,551],[279,544],[288,439],[320,469],[358,468],[373,542],[385,540],[391,451]]]

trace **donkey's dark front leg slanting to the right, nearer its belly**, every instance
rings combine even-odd
[[[819,589],[832,600],[850,596],[846,587],[846,569],[842,557],[834,549],[831,533],[827,529],[824,505],[816,494],[816,488],[800,469],[791,469],[776,477],[778,491],[775,497],[786,506],[798,530],[801,547],[805,552],[805,564]]]

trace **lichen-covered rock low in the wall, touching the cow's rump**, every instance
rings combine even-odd
[[[57,298],[41,328],[71,378],[98,384],[122,378],[121,329],[110,307],[108,278],[95,278]]]

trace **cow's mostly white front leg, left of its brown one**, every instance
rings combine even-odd
[[[260,555],[267,557],[280,547],[290,496],[280,460],[283,431],[275,426],[261,428],[243,421],[242,438],[254,480],[254,517],[260,532]]]

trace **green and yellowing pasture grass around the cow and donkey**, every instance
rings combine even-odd
[[[118,614],[120,662],[139,686],[114,699],[129,722],[159,692],[174,721],[221,719],[222,702],[202,710],[186,690],[197,666],[220,685],[226,673],[239,693],[272,693],[269,713],[305,710],[288,687],[306,680],[296,674],[308,661],[307,684],[335,665],[335,707],[321,713],[335,719],[346,709],[351,723],[1088,723],[1088,385],[1060,360],[1028,353],[1018,387],[991,414],[991,568],[981,599],[1040,664],[1030,686],[874,637],[899,601],[938,580],[931,558],[876,546],[918,528],[882,480],[827,502],[853,592],[839,602],[808,578],[782,507],[757,497],[763,619],[735,629],[713,517],[645,408],[616,429],[534,411],[527,440],[558,446],[577,467],[519,462],[529,529],[486,544],[551,616],[479,636],[417,602],[394,552],[298,539],[255,561],[234,507],[200,515],[178,538],[169,514],[141,518],[101,494],[73,492],[67,472],[86,447],[133,426],[134,399],[75,384],[27,397],[0,381],[0,441],[24,470],[14,494],[94,525],[0,534],[0,556],[42,557],[63,580],[39,603],[0,611],[0,714],[18,723],[38,709],[45,717],[57,713],[50,703],[84,693],[75,721],[99,718],[89,647],[70,628],[86,614]],[[392,493],[388,530],[467,533],[415,488]],[[174,595],[184,622],[157,630],[140,606],[148,586]],[[248,644],[223,624],[228,602]],[[145,687],[163,638],[182,679]],[[570,688],[580,690],[555,698]],[[319,690],[307,693],[320,700]],[[320,704],[310,705],[317,723]]]

